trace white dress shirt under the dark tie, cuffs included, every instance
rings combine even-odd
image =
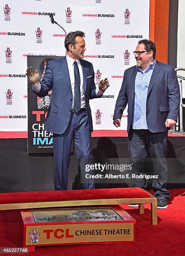
[[[71,88],[72,88],[72,108],[74,105],[74,97],[75,97],[75,74],[74,74],[74,59],[72,59],[70,56],[66,55],[66,60],[67,60],[67,67],[69,70],[69,75],[70,75],[70,82],[71,82]],[[82,72],[82,66],[80,64],[79,59],[76,60],[78,69],[80,72],[80,99],[81,99],[81,108],[85,108],[85,96],[84,96],[84,90],[83,90],[83,72]],[[37,85],[33,85],[33,91],[38,93],[40,92],[40,82]],[[103,92],[100,92],[98,88],[96,88],[96,96],[102,95]]]

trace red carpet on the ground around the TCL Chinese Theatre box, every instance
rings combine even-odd
[[[149,191],[150,192],[150,191]],[[145,214],[138,209],[122,205],[137,220],[136,243],[92,244],[73,246],[47,246],[35,248],[35,252],[22,255],[66,256],[179,256],[184,255],[185,189],[170,189],[168,208],[158,210],[158,225],[150,224],[149,205]],[[21,247],[19,210],[0,211],[0,247]],[[10,254],[3,254],[10,255]]]

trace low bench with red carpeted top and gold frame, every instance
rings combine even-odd
[[[133,203],[139,204],[140,214],[144,213],[144,204],[150,203],[152,224],[158,224],[157,198],[138,187],[0,194],[0,210],[87,205],[122,205]]]

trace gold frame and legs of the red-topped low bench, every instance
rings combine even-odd
[[[0,204],[0,210],[15,209],[34,209],[48,207],[67,207],[67,206],[87,206],[87,205],[124,205],[139,204],[139,213],[144,213],[144,204],[151,205],[151,222],[153,225],[158,224],[157,198],[148,193],[151,197],[145,198],[111,198],[111,199],[90,199],[90,200],[70,200],[55,202],[28,202],[28,203],[10,203]]]

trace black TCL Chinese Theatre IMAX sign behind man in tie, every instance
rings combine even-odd
[[[27,66],[37,69],[42,80],[48,61],[62,56],[28,56]],[[52,133],[45,131],[45,117],[50,105],[52,90],[40,98],[32,92],[28,79],[28,153],[52,153]]]

